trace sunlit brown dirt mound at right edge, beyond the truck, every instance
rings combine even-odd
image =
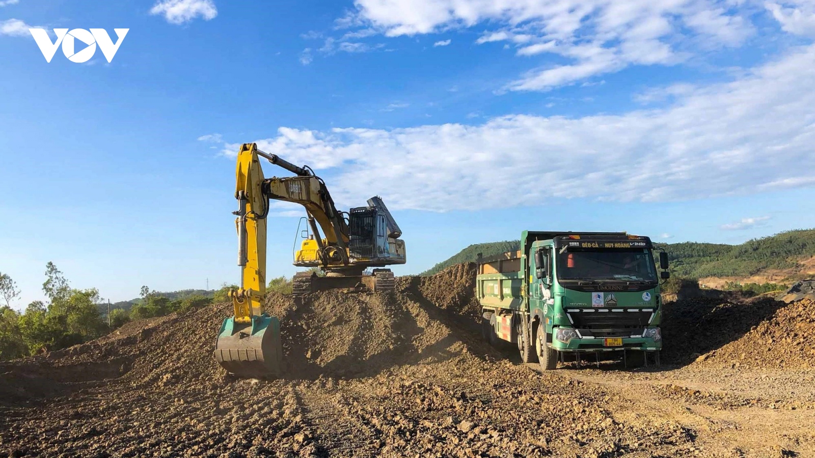
[[[730,368],[815,368],[815,301],[782,306],[742,337],[698,357]]]

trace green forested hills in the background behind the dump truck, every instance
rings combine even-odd
[[[433,275],[459,262],[474,262],[478,253],[486,257],[517,250],[518,246],[518,240],[472,244],[421,275]],[[675,275],[747,276],[766,269],[795,269],[798,260],[815,256],[815,229],[781,232],[737,245],[683,242],[657,246],[667,251]]]

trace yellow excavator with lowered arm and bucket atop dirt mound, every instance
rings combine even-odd
[[[295,176],[263,178],[260,157]],[[275,377],[280,375],[283,359],[280,320],[263,309],[269,200],[306,208],[307,228],[298,228],[303,240],[293,263],[324,272],[321,276],[311,269],[294,275],[295,296],[333,288],[393,290],[393,272],[381,267],[403,264],[405,244],[381,198],[374,196],[368,199],[368,206],[340,212],[325,182],[310,167],[262,152],[255,143],[245,143],[238,152],[235,198],[240,288],[229,293],[235,315],[223,320],[215,359],[239,377]]]

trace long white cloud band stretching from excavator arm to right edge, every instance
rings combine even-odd
[[[736,81],[686,88],[666,107],[617,115],[510,115],[392,130],[282,127],[258,143],[326,175],[343,204],[380,192],[394,209],[505,206],[496,183],[513,188],[513,205],[812,187],[813,61],[815,46],[801,47]],[[225,154],[236,151],[232,145]]]

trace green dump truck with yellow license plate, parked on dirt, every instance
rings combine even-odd
[[[523,231],[521,249],[478,259],[484,337],[518,345],[524,363],[553,369],[566,355],[645,352],[659,363],[667,253],[645,236]],[[604,358],[605,359],[605,358]]]

